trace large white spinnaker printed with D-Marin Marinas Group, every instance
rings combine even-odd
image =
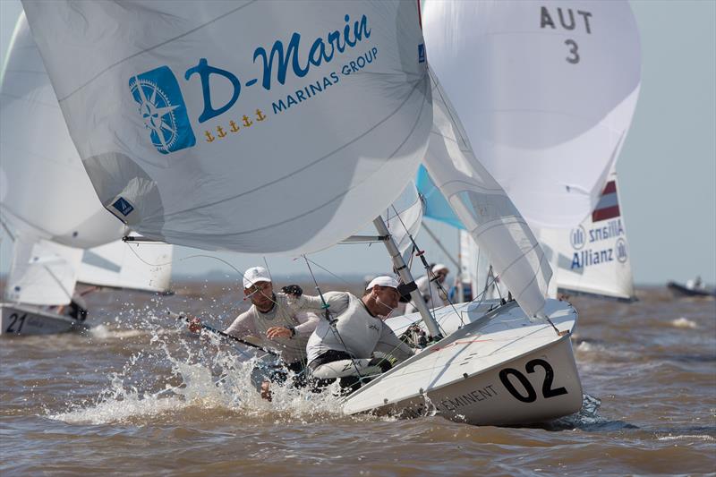
[[[427,147],[415,2],[23,5],[99,198],[142,235],[320,250]]]

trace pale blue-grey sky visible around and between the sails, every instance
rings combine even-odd
[[[637,284],[664,284],[701,275],[716,282],[716,2],[637,0],[631,2],[642,40],[642,89],[634,122],[618,159],[620,202],[626,220],[632,267]],[[17,0],[0,0],[2,60],[14,22]],[[0,125],[2,127],[2,125]],[[4,160],[4,158],[0,158]],[[454,253],[456,235],[429,222]],[[432,261],[449,263],[430,240],[419,243]],[[247,268],[263,260],[231,253],[178,247],[175,273],[198,276],[231,268],[216,255]],[[340,245],[312,257],[337,275],[388,271],[382,245]],[[11,260],[3,233],[0,272]],[[303,274],[303,261],[269,259],[272,273]],[[316,270],[314,270],[316,271]]]

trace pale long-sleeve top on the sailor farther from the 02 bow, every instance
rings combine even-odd
[[[251,305],[248,311],[240,314],[224,332],[237,338],[255,336],[267,348],[276,350],[281,359],[292,363],[306,360],[306,345],[309,336],[316,329],[319,317],[307,310],[302,310],[302,300],[294,299],[286,294],[275,294],[274,307],[263,313]],[[294,328],[295,336],[290,338],[268,339],[268,328]]]

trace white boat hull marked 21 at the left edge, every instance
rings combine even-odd
[[[76,319],[43,310],[37,306],[0,303],[2,326],[0,336],[53,335],[83,325]]]

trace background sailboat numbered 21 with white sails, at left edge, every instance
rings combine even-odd
[[[119,240],[124,226],[102,208],[81,166],[24,14],[0,94],[0,212],[13,240],[0,335],[86,327],[82,295],[97,286],[166,291],[172,246],[132,251]]]

